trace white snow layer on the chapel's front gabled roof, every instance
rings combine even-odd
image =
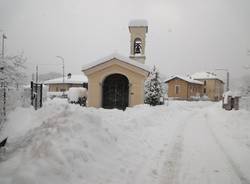
[[[97,60],[97,61],[95,61],[95,62],[92,62],[92,63],[90,63],[90,64],[87,64],[87,65],[85,65],[85,66],[82,67],[82,70],[83,70],[83,71],[84,71],[84,70],[88,70],[88,69],[90,69],[90,68],[93,68],[93,67],[95,67],[95,66],[97,66],[97,65],[100,65],[100,64],[103,64],[103,63],[105,63],[105,62],[108,62],[108,61],[110,61],[110,60],[112,60],[112,59],[115,59],[115,58],[118,59],[118,60],[121,61],[121,62],[124,62],[124,63],[127,63],[127,64],[129,64],[129,65],[135,66],[135,67],[140,68],[140,69],[142,69],[142,70],[145,70],[145,71],[147,71],[147,72],[151,71],[151,69],[150,69],[149,66],[147,66],[147,65],[145,65],[145,64],[142,64],[142,63],[139,63],[139,62],[136,61],[136,60],[133,60],[133,59],[124,57],[124,56],[122,56],[122,55],[120,55],[120,54],[118,54],[118,53],[113,53],[113,54],[111,54],[111,55],[109,55],[109,56],[107,56],[107,57],[101,58],[101,59],[99,59],[99,60]]]

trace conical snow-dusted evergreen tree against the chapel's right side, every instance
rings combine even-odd
[[[147,80],[145,81],[145,103],[150,105],[164,104],[162,84],[159,77],[159,72],[156,67],[150,72]]]

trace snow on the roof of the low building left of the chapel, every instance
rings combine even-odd
[[[70,78],[64,77],[64,83],[66,84],[82,84],[82,83],[87,83],[88,78],[82,74],[82,75],[71,75]],[[44,81],[44,84],[62,84],[63,83],[63,78],[56,78],[56,79],[51,79]]]

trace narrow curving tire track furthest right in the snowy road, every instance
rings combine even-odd
[[[215,141],[216,145],[219,147],[221,152],[225,155],[225,158],[227,159],[228,163],[232,167],[232,169],[233,169],[234,173],[236,174],[236,176],[238,176],[238,178],[240,179],[242,184],[250,184],[250,181],[244,176],[244,174],[241,172],[241,170],[239,169],[237,164],[233,161],[233,159],[225,151],[224,147],[222,146],[222,144],[218,140],[217,136],[215,135],[214,131],[210,127],[210,125],[208,123],[208,119],[207,119],[207,114],[205,114],[205,118],[206,118],[206,126],[208,127],[208,130],[210,131],[212,137],[214,138],[214,141]]]

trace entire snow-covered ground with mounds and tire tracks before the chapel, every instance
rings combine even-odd
[[[249,184],[250,111],[171,101],[126,111],[64,99],[9,114],[1,184]]]

